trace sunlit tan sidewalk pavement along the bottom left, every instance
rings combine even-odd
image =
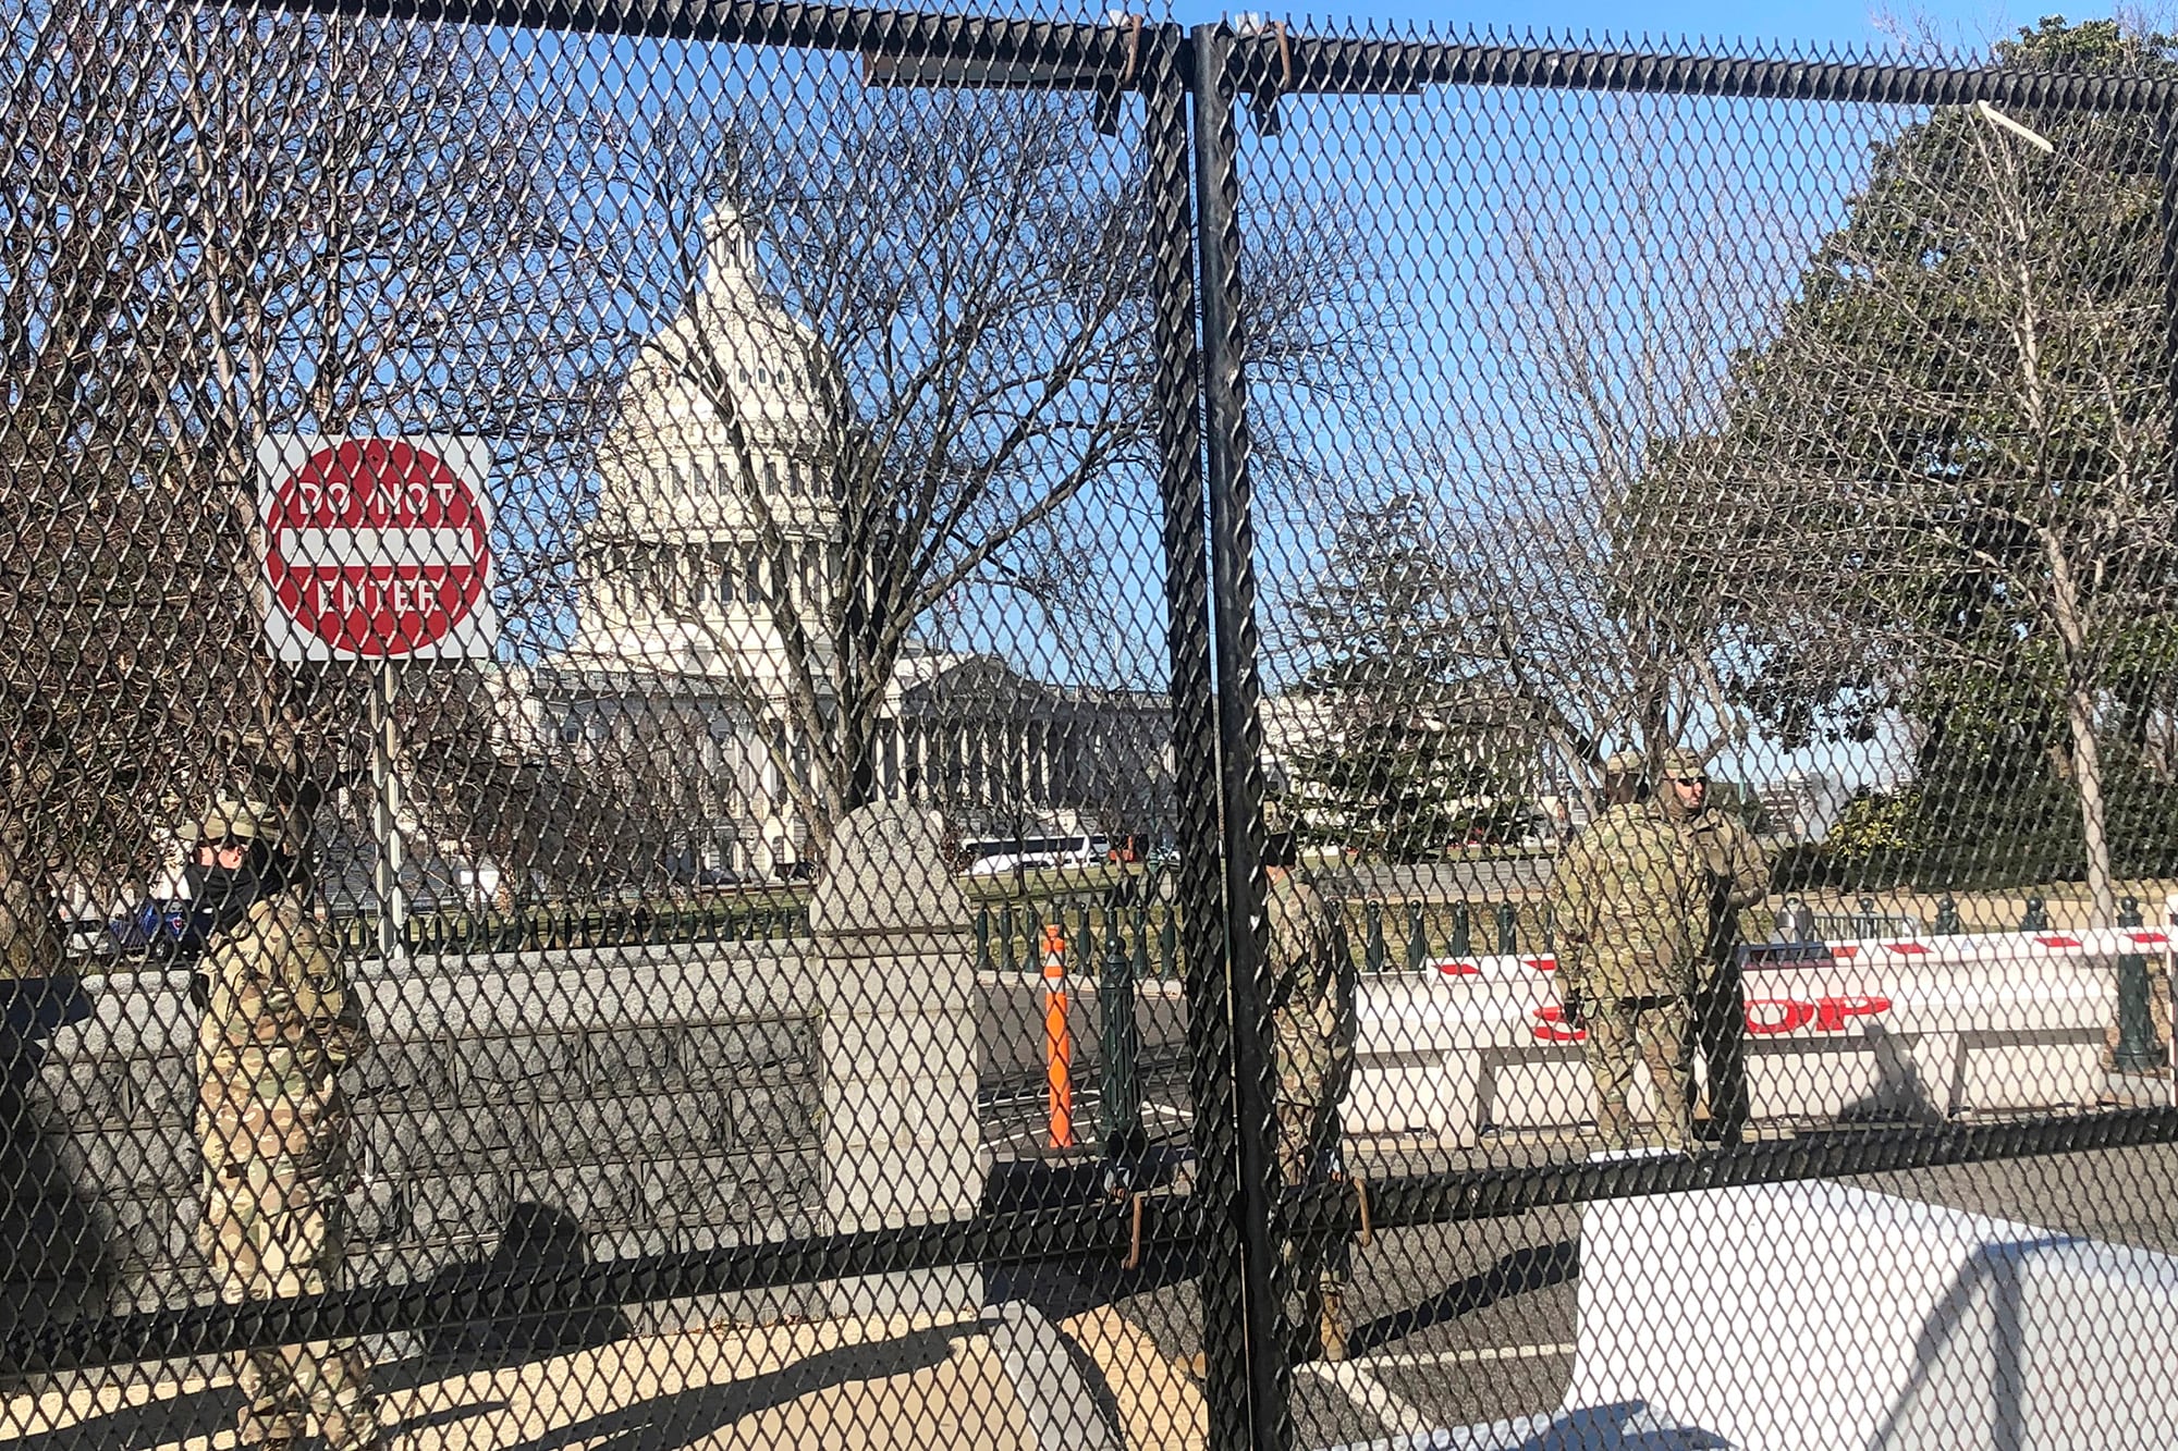
[[[54,1377],[0,1399],[22,1451],[220,1451],[233,1379]],[[1200,1390],[1111,1307],[638,1336],[488,1370],[381,1364],[401,1451],[1198,1451]]]

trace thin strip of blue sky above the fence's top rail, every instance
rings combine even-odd
[[[1956,44],[1980,48],[1989,35],[2008,35],[2021,24],[2058,11],[2047,4],[1993,4],[1991,0],[1934,0],[1925,4],[1893,4],[1893,13],[1917,13],[1934,22],[1934,28]],[[2071,17],[2100,17],[2108,4],[2063,11]],[[1263,7],[1278,13],[1276,7]],[[1183,2],[1176,7],[1178,20],[1215,20],[1224,7]],[[1542,35],[1557,37],[1642,37],[1677,39],[1708,37],[1712,41],[1801,41],[1808,48],[1875,48],[1884,44],[1875,22],[1875,7],[1864,0],[1803,0],[1779,4],[1777,0],[1751,0],[1734,4],[1729,0],[1553,0],[1551,4],[1498,2],[1483,7],[1429,4],[1416,0],[1381,0],[1376,4],[1339,9],[1324,13],[1331,26],[1348,15],[1376,22],[1379,31],[1405,26],[1433,26],[1440,35],[1464,31],[1496,31],[1498,35]],[[1331,28],[1316,26],[1316,28]]]

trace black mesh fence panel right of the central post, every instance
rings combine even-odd
[[[2034,1333],[2152,1338],[2084,1285],[2171,1224],[2167,1150],[2121,1148],[2169,1131],[2161,52],[1235,46],[1246,259],[1339,279],[1248,370],[1268,810],[1355,1000],[1339,1161],[1287,1172],[1344,1301],[1294,1316],[1296,1442],[2069,1416],[1975,1420],[1943,1294],[1982,1270],[1869,1246],[2082,1235]],[[1316,1017],[1278,1022],[1305,1098]],[[1631,1185],[1708,1194],[1570,1209]],[[1749,1349],[1792,1316],[1867,1340]],[[1808,1366],[1862,1390],[1784,1394]],[[2121,1399],[2121,1438],[2167,1414]]]

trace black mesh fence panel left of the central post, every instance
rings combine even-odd
[[[9,11],[9,1436],[1202,1436],[1143,44]]]

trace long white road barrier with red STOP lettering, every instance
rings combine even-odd
[[[1742,976],[1753,1115],[2089,1105],[2117,1020],[2110,959],[2167,946],[2163,928],[2104,928],[1758,948]],[[1555,970],[1549,954],[1475,956],[1363,978],[1348,1133],[1472,1144],[1590,1120],[1586,1033]],[[1644,1085],[1647,1070],[1636,1111]]]

